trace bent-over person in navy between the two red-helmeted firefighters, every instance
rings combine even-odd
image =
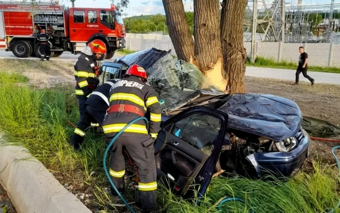
[[[120,79],[111,79],[95,89],[87,98],[86,112],[102,126],[106,110],[110,106],[109,95],[111,87]]]

